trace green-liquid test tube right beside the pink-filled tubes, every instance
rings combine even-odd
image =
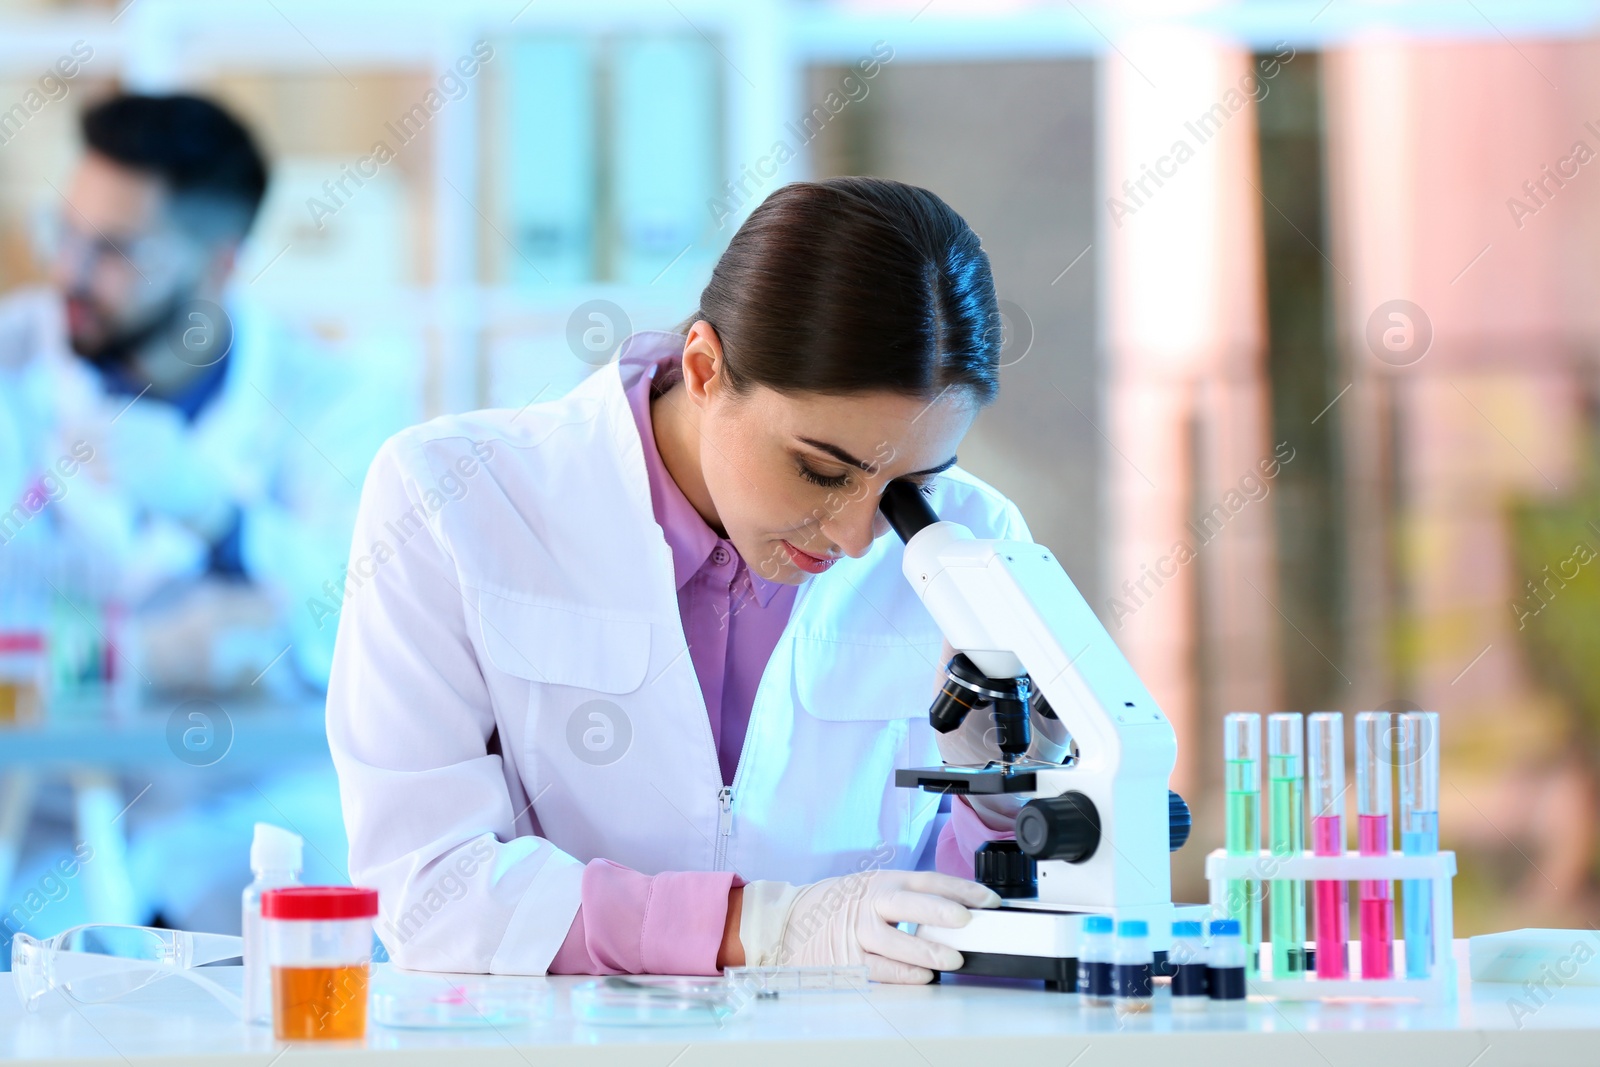
[[[1306,720],[1299,712],[1267,715],[1267,817],[1272,856],[1306,851]],[[1272,883],[1272,977],[1306,974],[1306,883]]]

